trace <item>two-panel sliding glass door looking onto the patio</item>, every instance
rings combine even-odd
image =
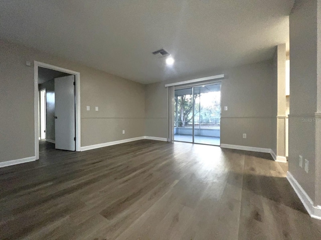
[[[220,145],[221,83],[175,89],[174,140]]]

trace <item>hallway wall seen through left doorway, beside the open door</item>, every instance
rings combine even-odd
[[[46,138],[55,140],[55,80],[40,84],[39,90],[46,88]]]

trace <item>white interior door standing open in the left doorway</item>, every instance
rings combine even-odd
[[[75,76],[55,78],[56,149],[76,150]]]

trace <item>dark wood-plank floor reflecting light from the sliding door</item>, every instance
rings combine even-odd
[[[208,145],[42,141],[40,160],[0,168],[0,239],[321,239],[286,171]]]

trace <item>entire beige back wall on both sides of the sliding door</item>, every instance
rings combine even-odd
[[[212,72],[212,75],[221,73],[225,74],[221,87],[222,107],[228,106],[228,111],[222,110],[221,143],[271,148],[275,144],[272,133],[276,132],[275,124],[272,125],[276,121],[276,79],[272,61],[228,68]],[[186,79],[177,81],[182,80]],[[166,83],[169,82],[145,87],[146,135],[167,137]],[[157,124],[152,124],[152,117],[156,117]],[[246,139],[242,133],[247,133]]]

